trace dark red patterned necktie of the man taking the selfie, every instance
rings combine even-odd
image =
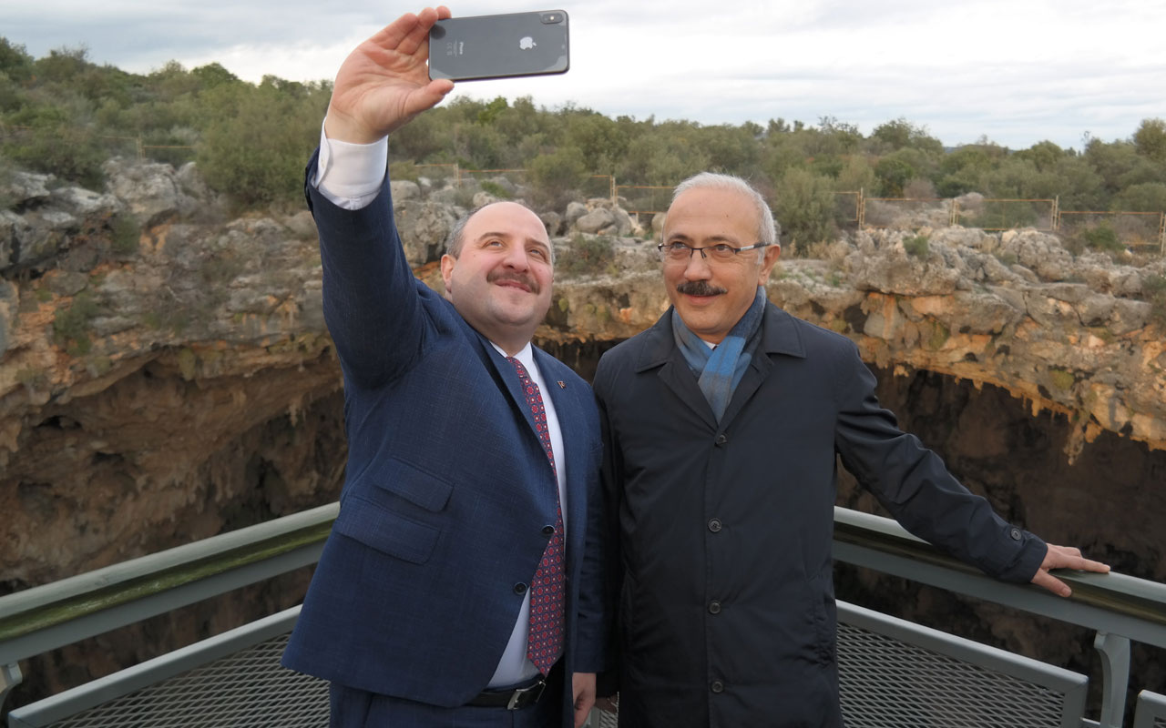
[[[563,651],[563,508],[559,502],[559,475],[555,467],[555,453],[550,448],[550,431],[547,429],[547,410],[542,405],[542,395],[526,367],[518,359],[507,356],[506,361],[514,365],[518,381],[522,386],[522,395],[534,415],[534,426],[539,441],[547,451],[550,471],[555,473],[555,532],[542,552],[542,561],[534,572],[531,582],[531,635],[526,642],[526,656],[539,672],[547,674],[550,666]]]

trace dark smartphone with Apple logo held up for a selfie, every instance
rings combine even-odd
[[[563,10],[450,17],[429,29],[430,79],[543,76],[568,68]]]

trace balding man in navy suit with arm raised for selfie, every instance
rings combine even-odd
[[[581,725],[603,665],[602,458],[588,384],[534,348],[554,249],[531,210],[487,205],[413,276],[386,136],[452,90],[407,14],[336,77],[307,196],[344,372],[347,476],[283,663],[331,681],[331,725]]]

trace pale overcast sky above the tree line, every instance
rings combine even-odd
[[[555,9],[450,2],[455,15]],[[237,76],[332,78],[358,42],[422,6],[371,0],[3,0],[0,36],[146,73],[218,62]],[[455,94],[531,96],[609,116],[705,125],[823,116],[863,134],[891,119],[947,146],[988,139],[1080,149],[1166,118],[1166,1],[588,0],[564,76],[464,82]]]

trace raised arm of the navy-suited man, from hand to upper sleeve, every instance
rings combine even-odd
[[[308,197],[324,267],[324,318],[352,383],[374,387],[406,370],[424,338],[419,298],[424,291],[401,250],[388,185],[384,177],[365,179],[364,167],[368,155],[385,154],[373,142],[454,87],[449,80],[430,82],[426,65],[429,29],[449,16],[445,7],[402,15],[349,54],[324,121],[328,142],[319,164],[312,161],[309,167]],[[338,142],[366,147],[347,147],[340,155]],[[337,179],[344,181],[339,188]],[[345,197],[340,189],[359,190],[363,202],[332,204]]]

